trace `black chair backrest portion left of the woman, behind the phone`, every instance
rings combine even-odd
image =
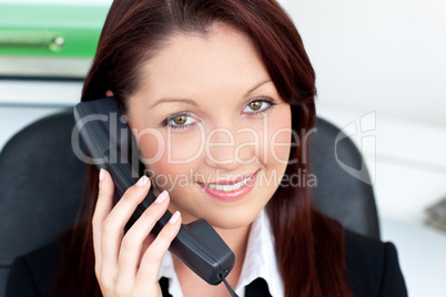
[[[71,148],[72,110],[27,126],[0,154],[0,296],[12,260],[73,224],[85,165]]]

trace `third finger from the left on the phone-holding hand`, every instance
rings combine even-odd
[[[155,223],[168,209],[169,203],[169,193],[164,191],[125,233],[119,255],[120,283],[129,284],[134,280],[144,242],[149,237]]]

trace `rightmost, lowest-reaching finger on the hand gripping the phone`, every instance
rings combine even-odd
[[[175,212],[169,223],[158,234],[156,238],[144,253],[136,275],[135,287],[144,286],[144,281],[158,281],[161,262],[172,240],[181,227],[181,213]]]

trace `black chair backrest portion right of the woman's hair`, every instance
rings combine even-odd
[[[362,154],[338,127],[317,119],[310,134],[310,154],[317,186],[313,201],[326,215],[356,233],[379,238],[379,222],[371,178]],[[345,171],[348,167],[351,173]]]

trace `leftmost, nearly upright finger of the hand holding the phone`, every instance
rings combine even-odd
[[[101,237],[102,224],[113,207],[114,185],[108,171],[99,173],[99,193],[92,218],[94,258],[98,266],[102,265]]]

